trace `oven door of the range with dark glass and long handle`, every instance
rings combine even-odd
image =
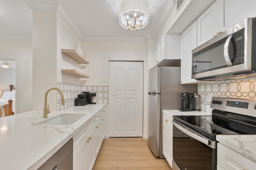
[[[173,170],[215,170],[216,141],[211,141],[172,120],[173,131],[179,129],[184,135],[173,135]],[[186,135],[189,137],[185,137]]]

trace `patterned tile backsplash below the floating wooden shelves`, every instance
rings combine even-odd
[[[92,102],[108,104],[108,85],[78,85],[64,82],[57,82],[63,95],[65,105],[61,106],[60,94],[58,93],[58,110],[74,106],[74,100],[81,92],[96,92]]]

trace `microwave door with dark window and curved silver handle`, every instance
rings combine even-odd
[[[192,50],[192,78],[232,73],[233,27]]]

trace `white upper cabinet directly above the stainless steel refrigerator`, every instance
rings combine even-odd
[[[176,60],[180,60],[180,34],[165,34],[156,43],[154,65],[164,63],[166,59],[173,59],[174,63],[169,62],[169,65],[179,65]]]

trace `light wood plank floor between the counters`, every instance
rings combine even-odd
[[[172,170],[166,159],[155,157],[146,139],[104,139],[93,170]]]

